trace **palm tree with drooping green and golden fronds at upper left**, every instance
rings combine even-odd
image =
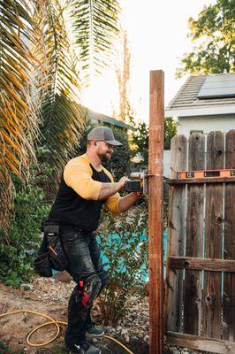
[[[0,0],[0,228],[35,142],[61,165],[80,141],[80,80],[107,65],[118,12],[117,0]]]

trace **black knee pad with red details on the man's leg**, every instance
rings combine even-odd
[[[93,301],[98,296],[101,287],[102,281],[96,274],[90,275],[84,281],[79,281],[80,302],[86,309],[92,307]]]

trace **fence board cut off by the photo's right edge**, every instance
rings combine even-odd
[[[235,168],[235,130],[227,133],[225,146],[225,168]],[[225,185],[224,194],[224,258],[235,259],[235,183]],[[224,273],[223,299],[223,339],[235,342],[234,273]]]

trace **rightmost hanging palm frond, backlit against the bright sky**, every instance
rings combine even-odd
[[[117,0],[70,0],[70,6],[75,43],[87,80],[110,65],[120,8]]]

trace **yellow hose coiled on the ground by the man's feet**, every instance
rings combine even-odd
[[[16,310],[16,311],[11,311],[11,312],[6,312],[3,313],[2,315],[0,315],[0,319],[4,316],[9,316],[15,313],[20,313],[20,312],[28,312],[28,313],[33,313],[34,315],[38,315],[38,316],[42,316],[45,319],[49,319],[49,322],[43,323],[42,325],[35,327],[34,329],[32,329],[32,331],[27,335],[27,344],[30,345],[31,347],[43,347],[44,345],[49,344],[50,342],[55,341],[55,339],[57,339],[57,336],[59,335],[59,331],[60,331],[60,327],[58,325],[64,325],[67,326],[67,322],[63,322],[63,321],[57,321],[56,319],[52,319],[52,317],[49,317],[48,315],[45,315],[44,313],[40,313],[40,312],[34,312],[34,311],[30,311],[30,310]],[[36,332],[39,328],[42,327],[46,327],[46,326],[50,326],[50,325],[54,325],[57,327],[57,334],[54,335],[54,337],[52,339],[50,339],[48,342],[42,342],[42,343],[33,343],[30,342],[30,337],[34,334],[34,332]],[[121,342],[118,342],[117,339],[114,339],[112,337],[110,337],[109,335],[102,335],[102,337],[110,339],[110,341],[113,342],[117,342],[117,344],[124,348],[126,350],[127,353],[129,354],[133,354],[133,352],[131,350],[129,350],[128,348],[125,347],[124,344],[122,344]]]

